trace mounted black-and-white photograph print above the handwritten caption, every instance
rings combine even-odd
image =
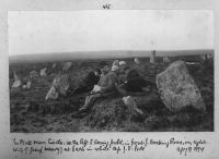
[[[210,10],[9,11],[11,133],[214,132]]]

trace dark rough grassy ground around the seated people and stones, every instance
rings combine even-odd
[[[130,65],[132,61],[125,59]],[[168,65],[150,64],[141,59],[141,75],[155,83],[155,75]],[[70,70],[71,86],[74,87],[85,74],[96,69],[100,61],[74,62]],[[112,63],[112,60],[107,61]],[[59,69],[51,71],[53,62],[10,64],[10,86],[13,82],[13,70],[21,76],[35,69],[49,70],[49,75],[34,82],[30,90],[10,88],[11,132],[163,132],[163,131],[214,131],[214,63],[206,62],[188,65],[188,70],[197,83],[207,112],[201,113],[191,107],[178,113],[170,112],[160,100],[157,88],[142,96],[135,96],[138,107],[143,111],[139,117],[128,112],[120,97],[108,97],[97,100],[90,113],[81,119],[71,118],[84,102],[87,94],[61,97],[58,100],[45,101],[45,96],[53,78]],[[58,62],[57,64],[60,64]]]

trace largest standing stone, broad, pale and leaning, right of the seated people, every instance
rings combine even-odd
[[[184,61],[173,62],[165,71],[158,74],[157,86],[163,103],[171,111],[180,111],[186,106],[206,110],[200,91]]]

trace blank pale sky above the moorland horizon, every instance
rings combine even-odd
[[[214,48],[210,10],[9,11],[9,56]]]

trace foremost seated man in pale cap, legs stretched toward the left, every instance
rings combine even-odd
[[[108,72],[108,66],[104,65],[101,69],[102,75],[99,84],[94,86],[93,90],[85,98],[85,103],[79,109],[80,112],[84,112],[93,107],[96,99],[101,97],[108,97],[116,94],[115,85],[118,83],[118,65],[113,65],[112,70]]]

